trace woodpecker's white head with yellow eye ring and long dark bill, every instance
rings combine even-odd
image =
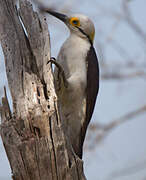
[[[47,12],[63,21],[68,26],[71,33],[75,33],[81,38],[88,38],[90,43],[93,44],[95,28],[93,22],[87,16],[82,14],[67,16],[54,11]]]

